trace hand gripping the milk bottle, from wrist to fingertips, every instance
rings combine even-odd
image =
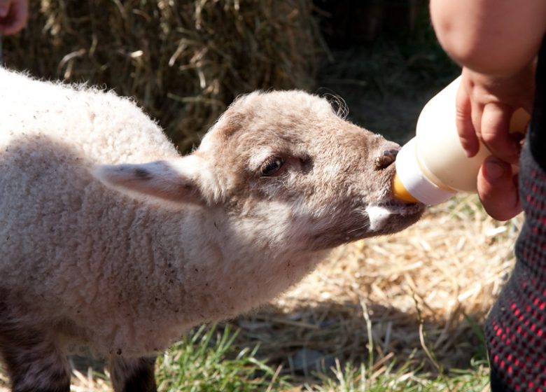
[[[534,64],[510,77],[485,76],[463,69],[457,95],[457,129],[468,156],[479,150],[479,141],[491,151],[479,171],[477,190],[487,213],[505,221],[519,214],[517,164],[522,134],[510,134],[515,110],[531,112],[534,96]]]

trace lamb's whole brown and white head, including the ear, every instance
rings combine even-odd
[[[240,97],[179,160],[102,167],[99,177],[171,202],[225,211],[233,230],[316,250],[402,230],[421,204],[391,194],[399,146],[300,91]]]

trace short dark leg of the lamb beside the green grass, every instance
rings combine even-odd
[[[116,392],[156,392],[154,378],[155,357],[124,358],[110,360],[112,385]]]

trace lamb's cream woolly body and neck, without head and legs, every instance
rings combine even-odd
[[[7,255],[0,293],[18,328],[60,332],[68,350],[149,355],[193,325],[251,309],[314,267],[316,252],[289,267],[270,251],[261,253],[270,264],[248,262],[255,258],[248,243],[267,248],[244,234],[255,223],[236,222],[239,235],[234,223],[225,232],[221,209],[165,204],[97,181],[100,164],[181,158],[130,99],[5,69],[0,84],[8,113],[0,132],[0,252]],[[284,207],[278,215],[287,216]]]

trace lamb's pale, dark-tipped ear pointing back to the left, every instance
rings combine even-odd
[[[204,204],[204,160],[187,155],[171,161],[132,165],[102,165],[94,175],[106,185],[171,202]]]

